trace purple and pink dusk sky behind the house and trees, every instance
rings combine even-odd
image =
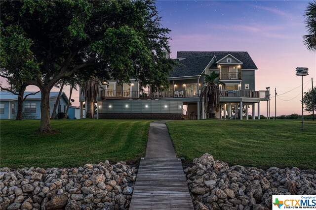
[[[258,67],[256,90],[271,88],[271,116],[276,88],[279,116],[301,114],[301,77],[295,75],[296,67],[310,69],[303,78],[304,91],[312,88],[312,77],[316,86],[316,53],[303,45],[308,2],[158,0],[157,8],[163,27],[171,30],[172,58],[177,51],[247,51]],[[69,95],[69,87],[65,92]],[[78,106],[78,91],[73,98]],[[265,116],[266,104],[260,103]]]

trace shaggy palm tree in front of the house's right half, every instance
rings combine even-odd
[[[220,109],[220,90],[219,85],[224,85],[219,81],[219,73],[213,71],[210,75],[202,74],[205,76],[205,86],[201,90],[199,96],[200,104],[204,101],[204,111],[206,112],[208,118],[215,118],[215,112]]]

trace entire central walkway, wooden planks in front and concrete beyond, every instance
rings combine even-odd
[[[129,210],[194,210],[165,122],[150,124],[146,157],[140,161]]]

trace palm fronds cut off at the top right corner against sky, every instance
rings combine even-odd
[[[305,12],[308,35],[304,35],[304,45],[310,51],[316,51],[316,1],[309,2]]]

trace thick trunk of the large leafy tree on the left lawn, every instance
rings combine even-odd
[[[50,89],[41,89],[41,101],[40,101],[40,129],[41,133],[51,133],[52,129],[50,127],[49,119],[49,92]]]

